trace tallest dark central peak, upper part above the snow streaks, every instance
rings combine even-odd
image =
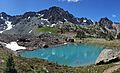
[[[68,11],[63,10],[60,7],[54,6],[49,8],[48,10],[42,10],[38,13],[42,14],[43,18],[48,19],[48,21],[52,24],[57,23],[58,21],[68,21],[75,24],[78,23],[76,18],[72,14],[70,14]]]

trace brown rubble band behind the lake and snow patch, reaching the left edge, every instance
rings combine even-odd
[[[28,50],[34,50],[38,48],[48,48],[54,45],[64,44],[64,38],[60,36],[42,33],[39,36],[29,35],[2,35],[0,34],[0,41],[4,43],[16,42],[19,46],[24,46]]]

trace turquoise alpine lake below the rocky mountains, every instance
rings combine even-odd
[[[103,47],[88,44],[66,44],[47,49],[23,51],[22,57],[45,59],[67,66],[86,66],[94,64]]]

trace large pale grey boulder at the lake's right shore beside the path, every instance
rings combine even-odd
[[[104,49],[98,56],[95,64],[105,64],[118,61],[118,54],[112,49]]]

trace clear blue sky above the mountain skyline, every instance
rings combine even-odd
[[[120,0],[0,0],[0,12],[20,15],[52,6],[68,10],[76,17],[98,21],[101,17],[120,22]]]

